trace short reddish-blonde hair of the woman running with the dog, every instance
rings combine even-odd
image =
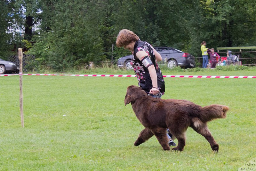
[[[132,31],[123,29],[117,35],[116,46],[122,47],[129,45],[133,41],[138,41],[140,38]]]

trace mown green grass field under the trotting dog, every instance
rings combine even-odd
[[[164,75],[256,74],[209,70]],[[226,119],[208,124],[219,153],[191,128],[183,152],[163,151],[155,137],[133,146],[143,126],[131,105],[124,106],[129,85],[137,85],[137,79],[23,76],[21,128],[19,76],[0,77],[0,170],[238,170],[256,157],[256,79],[165,78],[163,99],[230,107]]]

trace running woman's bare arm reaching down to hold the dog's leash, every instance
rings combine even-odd
[[[148,56],[148,53],[145,51],[139,51],[135,55],[141,61],[145,56]],[[155,87],[155,88],[150,89],[149,93],[156,95],[159,92],[159,90],[157,89],[157,75],[156,75],[156,69],[155,69],[154,65],[151,65],[148,67],[148,72],[149,72],[149,75],[150,75],[150,78],[152,81],[152,87]]]

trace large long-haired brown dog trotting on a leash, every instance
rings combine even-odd
[[[146,92],[138,86],[129,86],[124,103],[132,104],[140,123],[145,129],[140,132],[134,146],[139,146],[153,135],[164,150],[170,150],[166,128],[178,139],[178,146],[172,150],[182,151],[185,146],[185,132],[188,126],[204,136],[210,143],[212,150],[219,150],[207,127],[207,122],[217,118],[226,118],[228,106],[212,104],[201,107],[187,100],[160,99],[146,96]]]

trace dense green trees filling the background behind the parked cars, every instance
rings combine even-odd
[[[36,55],[39,61],[36,67],[57,71],[128,55],[128,51],[116,46],[112,52],[121,29],[132,30],[153,46],[172,46],[191,53],[197,66],[202,62],[203,40],[209,48],[256,43],[256,2],[248,0],[5,0],[1,3],[0,55],[25,46],[28,53]],[[24,12],[21,6],[26,9],[25,16],[21,15]],[[26,23],[28,16],[33,17],[31,26]],[[24,45],[23,38],[5,33],[12,23],[34,28],[32,39],[26,39],[29,35],[24,38],[30,44]]]

